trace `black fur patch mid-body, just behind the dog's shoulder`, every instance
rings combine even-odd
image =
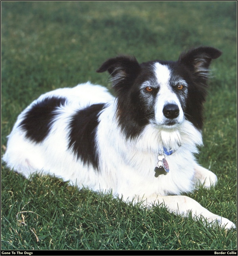
[[[105,104],[94,104],[73,115],[69,124],[69,145],[77,159],[87,165],[98,169],[98,154],[96,152],[96,128],[98,114],[104,109]]]

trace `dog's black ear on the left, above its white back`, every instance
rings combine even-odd
[[[110,73],[113,85],[115,86],[122,80],[135,78],[140,71],[140,65],[135,57],[118,56],[108,59],[97,70],[98,73],[105,71]]]

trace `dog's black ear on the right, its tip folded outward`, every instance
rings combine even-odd
[[[198,47],[182,53],[179,62],[186,65],[195,75],[206,78],[209,74],[209,65],[212,59],[217,59],[221,51],[213,47]]]

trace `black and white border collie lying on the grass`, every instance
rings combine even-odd
[[[19,115],[4,161],[26,177],[52,174],[78,188],[112,190],[125,201],[235,227],[179,195],[217,182],[194,154],[202,145],[209,64],[220,55],[199,47],[176,62],[109,59],[97,72],[109,71],[116,97],[90,83],[40,96]]]

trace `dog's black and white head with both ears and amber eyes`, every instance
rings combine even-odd
[[[182,53],[176,62],[139,64],[134,57],[118,56],[104,62],[117,96],[117,116],[127,137],[137,136],[147,124],[176,128],[184,119],[202,128],[209,65],[221,52],[199,47]]]

